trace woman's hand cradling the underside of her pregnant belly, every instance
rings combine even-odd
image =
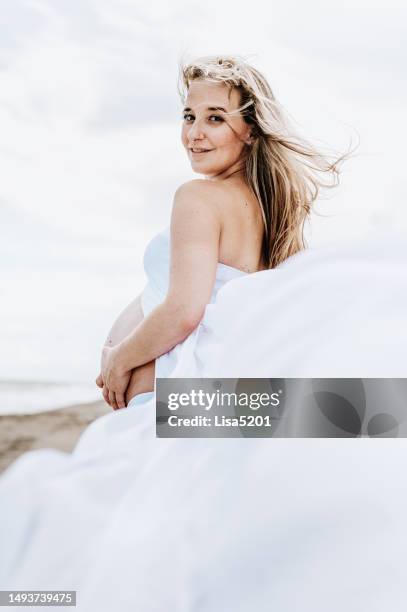
[[[101,372],[96,379],[103,386],[103,397],[113,409],[125,408],[125,394],[131,378],[131,370],[125,371],[120,365],[119,345],[104,346],[102,350]]]

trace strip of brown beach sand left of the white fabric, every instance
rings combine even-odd
[[[71,452],[85,427],[108,412],[112,408],[99,400],[36,414],[0,416],[0,472],[26,451],[56,448]]]

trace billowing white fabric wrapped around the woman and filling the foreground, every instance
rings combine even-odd
[[[146,250],[146,314],[168,238]],[[405,377],[405,244],[372,234],[250,275],[220,264],[156,375]],[[72,455],[25,453],[0,477],[0,589],[76,589],[84,612],[404,612],[406,460],[404,440],[157,439],[145,394]]]

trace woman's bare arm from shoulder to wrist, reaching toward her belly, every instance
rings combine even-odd
[[[198,179],[178,188],[171,216],[167,296],[113,349],[109,364],[106,361],[108,387],[110,382],[113,388],[114,378],[119,380],[132,368],[167,353],[202,319],[216,277],[221,233],[218,201],[223,195],[215,181]]]

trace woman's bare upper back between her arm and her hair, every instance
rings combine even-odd
[[[261,253],[264,224],[257,198],[241,182],[224,181],[222,187],[219,261],[249,274],[266,270]]]

